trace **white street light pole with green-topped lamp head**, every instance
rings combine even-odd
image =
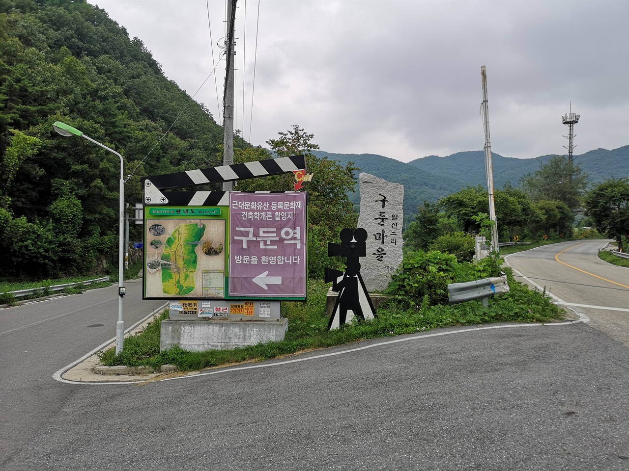
[[[62,136],[79,136],[81,138],[85,138],[88,141],[96,144],[97,146],[101,146],[103,149],[108,150],[109,152],[116,154],[120,158],[120,211],[118,214],[118,226],[119,226],[119,243],[118,243],[118,322],[116,323],[116,355],[120,354],[123,350],[124,345],[124,337],[125,337],[125,321],[123,319],[123,308],[122,308],[122,300],[126,294],[125,286],[123,286],[124,281],[124,266],[125,266],[125,251],[124,251],[124,231],[125,231],[125,175],[124,175],[124,161],[122,156],[114,151],[114,149],[110,149],[107,146],[99,143],[98,141],[94,141],[94,139],[86,136],[78,129],[75,129],[72,126],[68,126],[67,124],[57,121],[52,127],[57,131],[57,133]]]

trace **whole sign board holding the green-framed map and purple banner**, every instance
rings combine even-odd
[[[306,193],[145,206],[144,299],[306,298]]]

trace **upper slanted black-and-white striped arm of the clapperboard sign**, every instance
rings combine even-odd
[[[281,175],[282,173],[289,173],[294,170],[304,170],[305,168],[306,157],[303,155],[294,155],[291,157],[280,157],[277,159],[236,163],[234,165],[201,168],[198,170],[180,171],[177,173],[167,173],[166,175],[147,176],[146,178],[143,178],[143,181],[150,180],[155,188],[158,188],[159,190],[166,190],[168,188],[203,185],[203,183],[245,180],[246,178],[256,178],[258,176]]]

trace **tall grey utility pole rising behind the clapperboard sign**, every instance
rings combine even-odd
[[[223,165],[232,165],[234,160],[234,23],[236,19],[237,0],[228,0],[227,19],[227,39],[225,40],[226,67],[225,67],[225,88],[223,91]],[[233,189],[233,182],[224,181],[223,191],[229,192]]]

